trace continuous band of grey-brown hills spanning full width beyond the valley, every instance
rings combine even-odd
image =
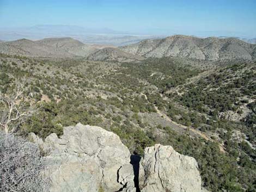
[[[72,38],[38,41],[20,39],[2,42],[0,52],[28,57],[73,58],[97,61],[141,61],[144,58],[178,57],[204,61],[256,60],[256,45],[236,38],[196,38],[174,35],[142,40],[137,44],[113,47],[91,45]]]

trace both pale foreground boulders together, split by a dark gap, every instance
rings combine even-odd
[[[42,141],[32,133],[31,139],[45,154],[51,192],[202,191],[196,160],[171,146],[147,147],[132,165],[120,138],[100,127],[78,123],[65,127],[60,138],[53,133]]]

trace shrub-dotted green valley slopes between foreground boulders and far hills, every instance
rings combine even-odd
[[[25,77],[31,103],[40,106],[19,125],[20,134],[46,138],[78,122],[100,126],[118,134],[132,154],[160,143],[194,157],[210,191],[255,190],[255,63],[202,69],[186,62],[2,54],[0,90]]]

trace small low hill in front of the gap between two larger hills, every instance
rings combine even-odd
[[[131,61],[142,61],[143,57],[133,55],[120,51],[118,48],[103,48],[90,54],[87,57],[88,60],[94,61],[119,61],[119,62],[131,62]]]

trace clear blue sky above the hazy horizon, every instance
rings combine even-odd
[[[0,28],[42,24],[256,37],[256,0],[0,0]]]

